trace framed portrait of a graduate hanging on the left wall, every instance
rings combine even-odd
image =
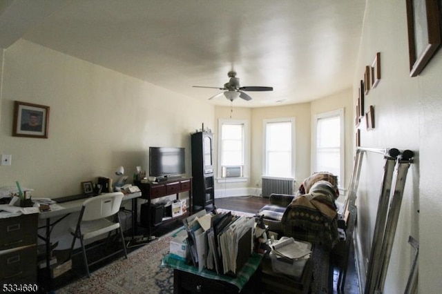
[[[49,106],[15,101],[12,136],[48,139]]]

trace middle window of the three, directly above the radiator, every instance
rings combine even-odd
[[[294,173],[295,119],[266,119],[265,172],[269,177],[290,177]]]

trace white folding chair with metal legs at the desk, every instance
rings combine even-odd
[[[70,228],[70,233],[73,235],[70,252],[72,254],[75,241],[78,238],[81,243],[81,250],[83,251],[83,259],[88,277],[90,277],[89,266],[101,262],[103,259],[116,255],[121,251],[124,251],[124,256],[127,258],[126,244],[124,244],[124,235],[118,215],[122,199],[123,193],[121,192],[108,193],[86,199],[81,207],[77,225]],[[114,221],[111,221],[111,217],[113,217]],[[115,251],[94,262],[88,263],[84,240],[103,235],[104,233],[108,233],[109,238],[113,231],[119,231],[119,237],[123,245],[122,250]]]

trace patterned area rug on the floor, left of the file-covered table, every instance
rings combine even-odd
[[[160,237],[55,293],[173,293],[173,269],[160,267],[170,240]]]

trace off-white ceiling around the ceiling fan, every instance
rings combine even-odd
[[[364,10],[365,0],[2,0],[0,47],[23,38],[204,103],[221,91],[192,86],[222,87],[234,69],[241,86],[273,86],[234,105],[294,104],[352,86]]]

